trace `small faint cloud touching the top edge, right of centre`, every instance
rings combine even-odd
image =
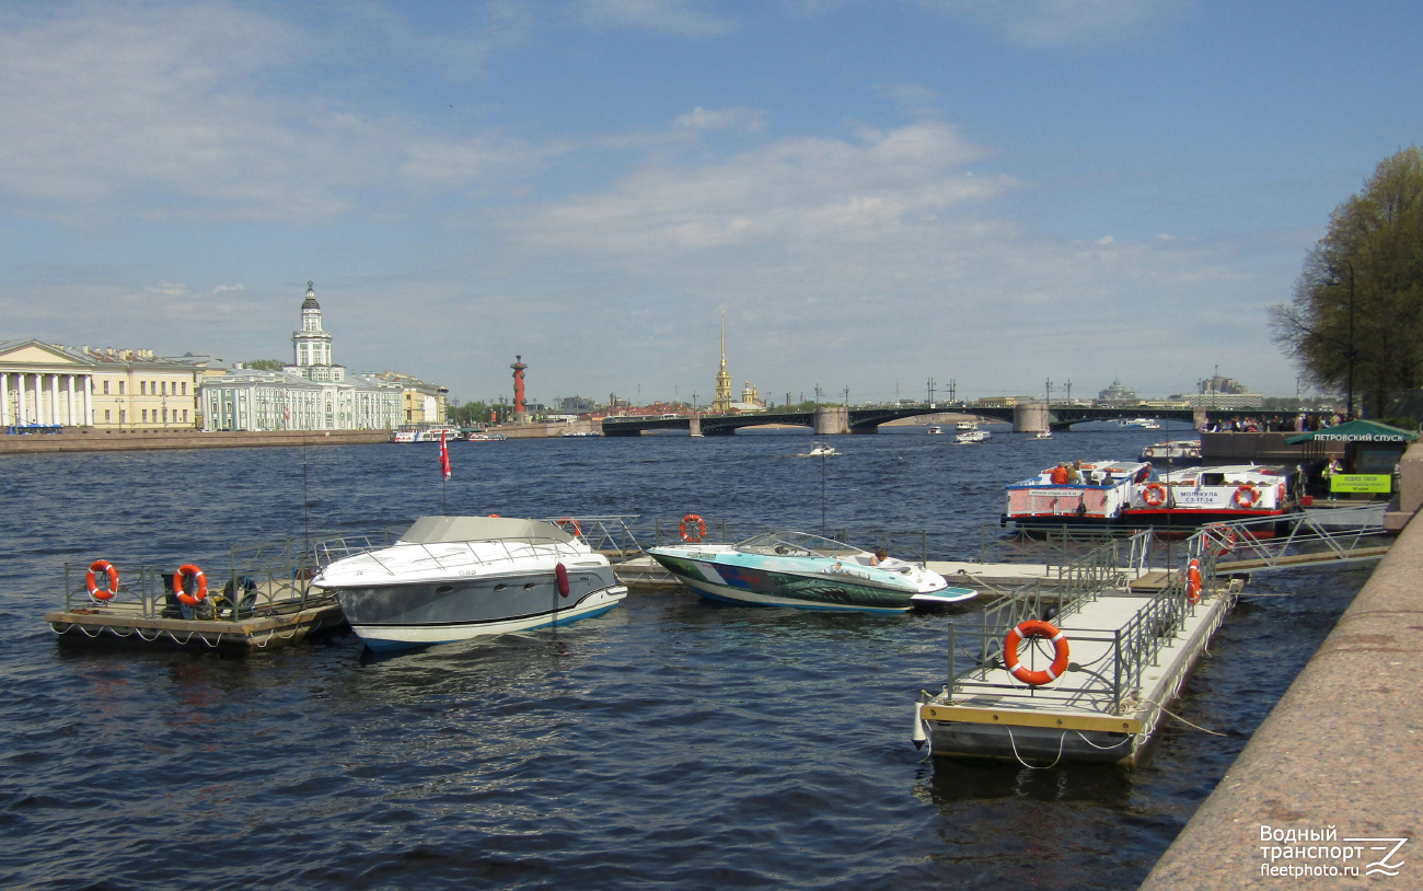
[[[922,0],[969,16],[1029,47],[1124,40],[1185,0]]]

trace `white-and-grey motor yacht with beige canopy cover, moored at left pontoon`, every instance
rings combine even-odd
[[[578,537],[499,517],[421,517],[396,544],[337,559],[312,585],[336,595],[377,652],[566,625],[628,596]]]

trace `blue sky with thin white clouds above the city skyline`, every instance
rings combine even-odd
[[[1423,4],[0,6],[0,340],[461,401],[1294,396],[1266,307],[1420,142]]]

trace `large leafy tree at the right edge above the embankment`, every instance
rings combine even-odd
[[[1329,216],[1289,303],[1269,307],[1275,342],[1316,387],[1382,417],[1423,383],[1423,151],[1385,158]]]

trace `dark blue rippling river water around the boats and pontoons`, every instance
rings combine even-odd
[[[837,437],[831,528],[978,552],[1003,484],[1163,431]],[[314,441],[314,440],[313,440]],[[448,512],[820,528],[804,436],[458,443]],[[370,659],[61,645],[63,561],[440,512],[434,445],[0,458],[0,887],[1133,888],[1368,578],[1257,578],[1136,771],[928,759],[952,616],[633,594],[558,632]],[[1242,844],[1245,844],[1242,841]]]

